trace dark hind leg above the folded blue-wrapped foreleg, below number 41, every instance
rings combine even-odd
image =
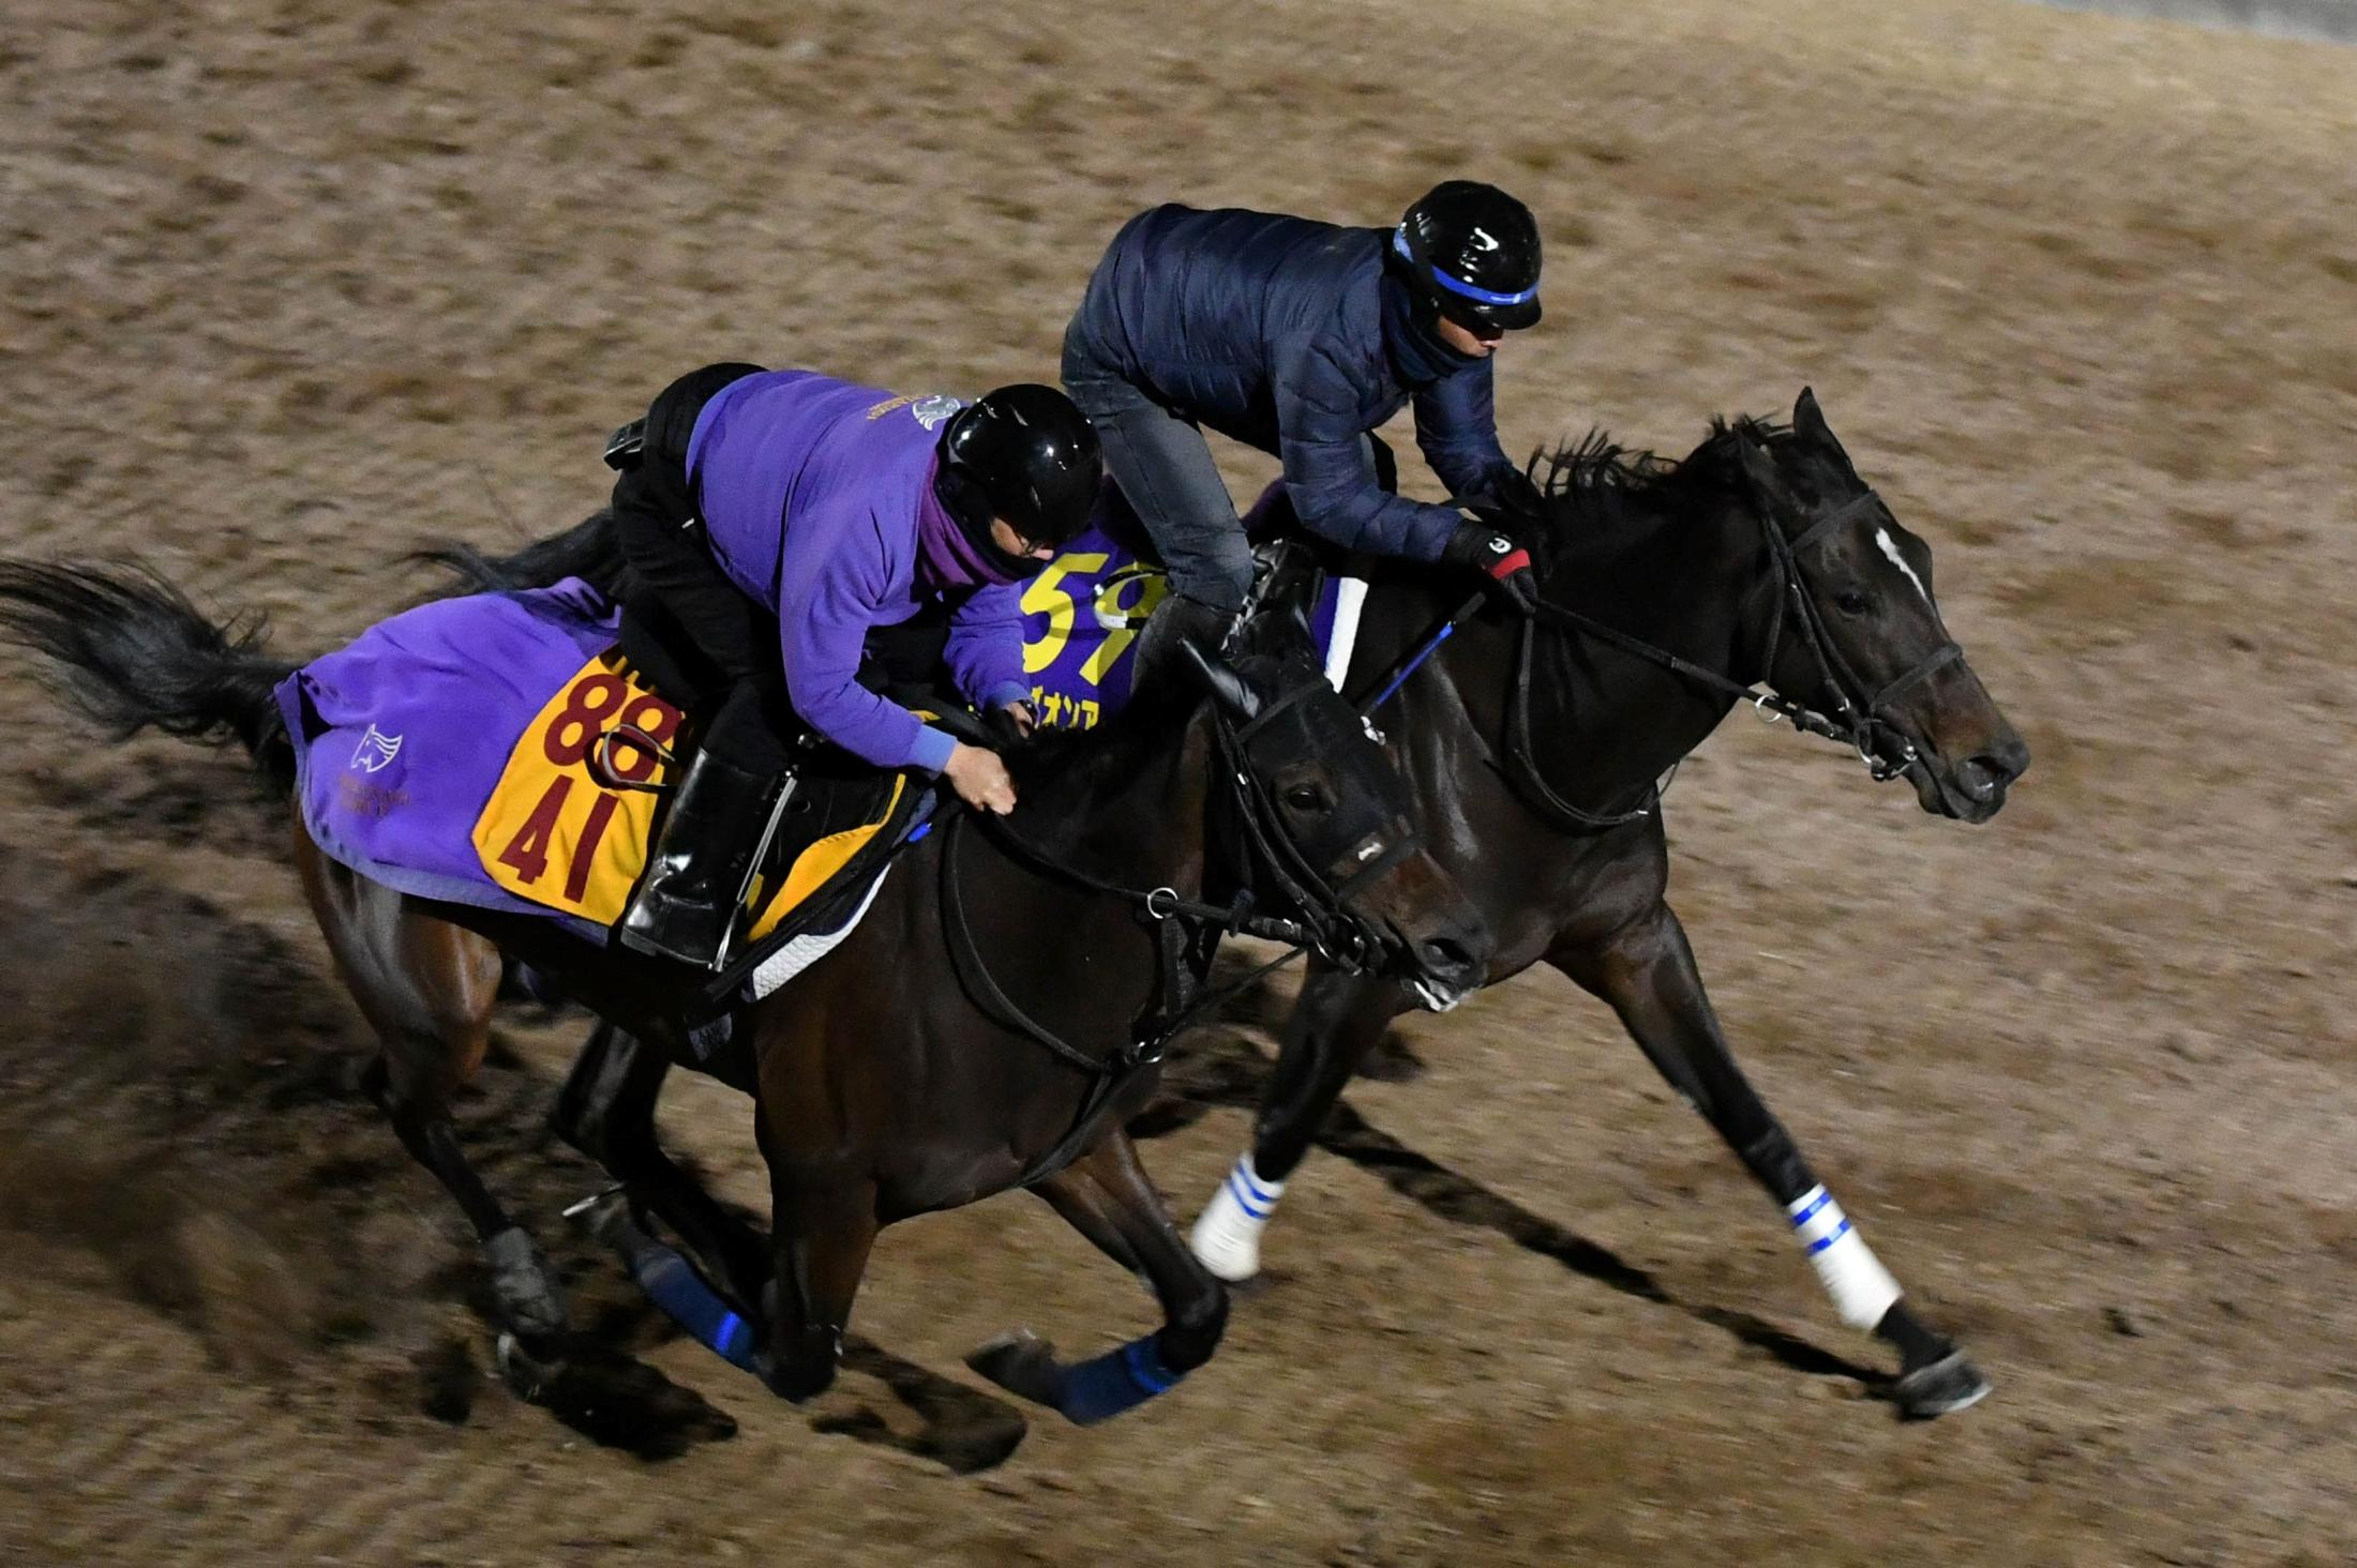
[[[662,1151],[655,1137],[655,1101],[672,1059],[613,1023],[599,1023],[573,1061],[549,1127],[573,1148],[606,1167],[634,1203],[643,1203],[688,1245],[698,1261],[721,1276],[728,1306],[750,1316],[768,1285],[768,1240],[705,1191]],[[596,1205],[589,1217],[608,1224],[613,1205]],[[639,1271],[643,1250],[608,1236]],[[676,1313],[674,1313],[676,1316]],[[695,1332],[695,1325],[688,1325]],[[698,1332],[702,1339],[705,1335]],[[705,1339],[712,1344],[712,1339]],[[714,1346],[721,1349],[721,1346]],[[728,1351],[721,1349],[726,1356]]]

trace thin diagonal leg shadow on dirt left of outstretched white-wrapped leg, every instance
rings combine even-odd
[[[1244,1004],[1233,1009],[1226,1021],[1268,1028],[1268,1019],[1273,1016],[1275,1030],[1282,1030],[1285,1009],[1287,1004]],[[1393,1056],[1405,1056],[1414,1063],[1414,1056],[1407,1056],[1405,1049],[1393,1052]],[[1193,1127],[1209,1111],[1256,1111],[1261,1103],[1261,1089],[1268,1085],[1268,1056],[1263,1056],[1261,1049],[1242,1035],[1233,1030],[1200,1035],[1190,1047],[1181,1047],[1171,1054],[1169,1068],[1162,1078],[1162,1096],[1129,1125],[1129,1134],[1136,1139],[1157,1139],[1178,1132],[1181,1127]],[[1421,1063],[1417,1063],[1414,1073],[1421,1073]],[[1848,1356],[1810,1344],[1801,1335],[1782,1330],[1756,1313],[1676,1297],[1650,1271],[1638,1269],[1610,1247],[1598,1245],[1586,1236],[1579,1236],[1577,1231],[1490,1191],[1480,1181],[1440,1165],[1431,1155],[1409,1148],[1381,1127],[1374,1127],[1346,1099],[1334,1103],[1334,1113],[1318,1132],[1318,1146],[1381,1177],[1391,1191],[1419,1203],[1431,1214],[1438,1214],[1454,1226],[1494,1231],[1516,1247],[1537,1252],[1539,1257],[1551,1259],[1582,1278],[1596,1280],[1598,1285],[1607,1285],[1655,1306],[1683,1311],[1690,1318],[1732,1335],[1744,1346],[1791,1368],[1794,1372],[1805,1372],[1810,1377],[1848,1377],[1879,1398],[1888,1396],[1893,1389],[1893,1377],[1888,1372],[1879,1372],[1869,1365],[1850,1361]]]

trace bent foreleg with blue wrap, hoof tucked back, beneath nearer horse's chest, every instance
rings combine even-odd
[[[966,1365],[1087,1427],[1143,1405],[1211,1361],[1228,1327],[1228,1290],[1178,1238],[1127,1132],[1113,1132],[1035,1191],[1105,1257],[1146,1276],[1162,1327],[1077,1365],[1063,1365],[1035,1335],[1009,1335]]]

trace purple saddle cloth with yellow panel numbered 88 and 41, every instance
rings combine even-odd
[[[342,865],[422,898],[561,920],[603,943],[646,868],[681,712],[615,651],[620,611],[580,580],[417,606],[278,686],[304,825]],[[636,788],[632,788],[636,785]],[[827,915],[924,790],[813,766],[747,905],[747,948]],[[799,806],[799,809],[797,809]]]

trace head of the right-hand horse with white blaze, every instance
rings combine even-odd
[[[1739,446],[1787,542],[1789,601],[1768,679],[1848,722],[1876,771],[1904,773],[1926,811],[1996,816],[2029,747],[1947,634],[1930,545],[1857,476],[1813,391],[1787,434]]]

